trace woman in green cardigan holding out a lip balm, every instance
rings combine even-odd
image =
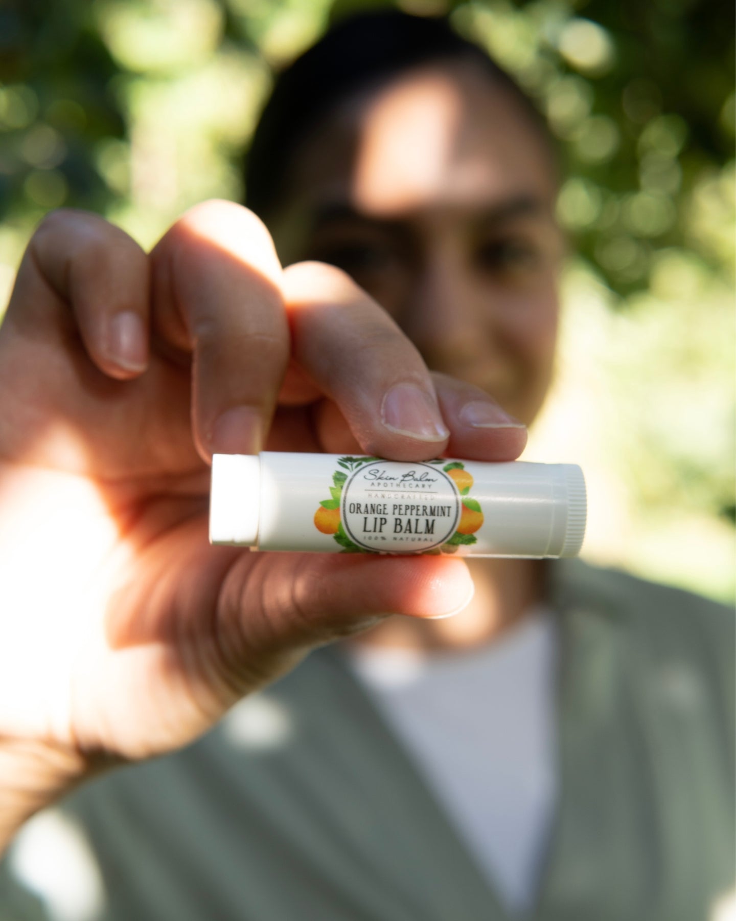
[[[270,449],[518,457],[552,373],[556,188],[507,76],[441,21],[380,14],[307,52],[260,122],[248,204],[284,274],[222,205],[150,259],[86,216],[41,227],[0,336],[5,482],[99,549],[56,683],[15,641],[7,834],[371,627],[63,804],[104,882],[90,916],[674,921],[730,886],[719,606],[577,561],[477,560],[471,586],[457,560],[203,549],[201,458],[259,449],[279,387]]]

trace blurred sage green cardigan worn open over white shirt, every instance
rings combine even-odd
[[[579,560],[547,572],[561,796],[523,916],[707,919],[734,876],[732,612]],[[97,856],[100,919],[513,916],[343,657],[319,649],[263,692],[273,744],[234,744],[225,720],[63,804]],[[43,916],[22,911],[7,917]]]

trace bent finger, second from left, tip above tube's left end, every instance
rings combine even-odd
[[[289,360],[281,264],[268,230],[238,204],[205,202],[151,255],[154,330],[193,357],[201,456],[257,453]]]

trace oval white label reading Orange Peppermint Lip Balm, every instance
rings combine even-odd
[[[431,550],[452,537],[460,519],[454,479],[429,463],[366,463],[348,478],[340,498],[342,525],[366,550]]]

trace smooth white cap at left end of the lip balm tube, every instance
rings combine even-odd
[[[213,455],[210,542],[255,546],[259,536],[260,459]]]

